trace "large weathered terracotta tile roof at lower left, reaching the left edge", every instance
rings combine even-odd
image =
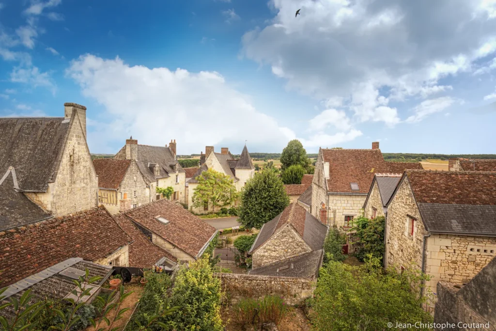
[[[1,285],[10,285],[69,258],[105,258],[130,241],[104,207],[2,231]]]

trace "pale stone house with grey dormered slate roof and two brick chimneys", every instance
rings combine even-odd
[[[149,196],[151,200],[163,199],[162,195],[156,192],[156,188],[172,187],[174,193],[171,200],[174,202],[185,203],[184,187],[186,183],[185,171],[179,164],[176,156],[176,140],[171,140],[169,147],[138,145],[138,140],[126,139],[125,146],[114,156],[116,160],[133,160],[137,165],[137,169],[132,167],[130,172],[132,176],[127,179],[134,180],[134,176],[138,178],[141,173],[147,183],[141,192],[136,190],[136,201],[145,201]],[[139,170],[139,173],[138,173]],[[132,186],[132,183],[129,183]],[[124,193],[121,191],[119,200],[124,199]],[[129,199],[129,195],[127,196]],[[133,190],[134,197],[134,190]],[[143,202],[141,202],[143,203]],[[139,205],[139,202],[138,202]],[[134,203],[136,207],[136,203]]]

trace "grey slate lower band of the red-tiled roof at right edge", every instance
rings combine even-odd
[[[430,233],[496,236],[496,205],[417,203]]]

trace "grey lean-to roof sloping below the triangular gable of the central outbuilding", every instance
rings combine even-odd
[[[322,250],[313,251],[251,269],[248,274],[279,277],[316,277],[318,268],[322,263],[322,257]],[[293,268],[291,265],[293,265]],[[281,270],[282,267],[286,266],[289,267]]]

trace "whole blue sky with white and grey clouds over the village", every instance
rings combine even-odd
[[[64,102],[92,153],[496,153],[496,0],[0,0],[0,117]]]

